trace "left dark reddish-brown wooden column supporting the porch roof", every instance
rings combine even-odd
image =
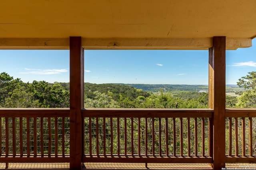
[[[81,37],[70,37],[70,170],[82,169],[84,48]]]

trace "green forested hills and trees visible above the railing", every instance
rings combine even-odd
[[[226,107],[255,107],[256,72],[240,78],[237,85],[236,96],[226,95]],[[199,90],[207,91],[208,86],[84,83],[84,107],[208,108],[208,93],[198,93]],[[69,83],[36,80],[26,83],[2,72],[0,107],[69,107]]]

